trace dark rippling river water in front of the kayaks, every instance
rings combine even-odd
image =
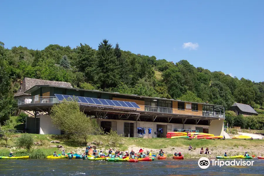
[[[89,160],[0,160],[0,175],[264,175],[264,160],[253,166],[209,166],[201,169],[198,159],[152,162],[106,162]]]

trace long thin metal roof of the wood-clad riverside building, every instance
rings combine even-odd
[[[112,95],[123,95],[123,96],[134,97],[134,98],[139,97],[139,98],[160,99],[160,100],[168,100],[168,101],[180,101],[180,102],[186,102],[186,103],[198,103],[198,102],[181,101],[181,100],[166,99],[166,98],[159,98],[159,97],[146,97],[146,96],[139,96],[139,95],[120,94],[120,93],[114,93],[114,92],[104,92],[104,91],[99,91],[99,90],[88,90],[88,89],[79,89],[79,88],[73,88],[73,87],[63,87],[63,86],[53,86],[53,85],[35,85],[34,87],[32,87],[31,89],[28,89],[24,93],[31,94],[32,92],[35,92],[36,90],[38,90],[40,87],[58,87],[58,88],[65,88],[65,89],[74,89],[77,91],[83,90],[83,91],[100,92],[100,93],[106,93],[106,94],[112,94]],[[207,103],[199,103],[199,104],[223,107],[222,105],[217,105],[217,104],[207,104]]]

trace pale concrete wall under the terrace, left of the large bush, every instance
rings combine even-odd
[[[53,126],[51,117],[48,115],[40,115],[40,134],[61,134],[61,131]]]

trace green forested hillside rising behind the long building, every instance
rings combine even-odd
[[[118,44],[112,46],[108,40],[99,43],[98,48],[81,43],[76,48],[49,45],[44,50],[22,46],[7,49],[1,42],[0,68],[1,122],[16,108],[13,94],[24,77],[70,82],[83,89],[208,101],[226,108],[235,101],[253,107],[264,102],[264,82],[195,68],[180,58],[173,64],[155,56],[134,54],[121,50]]]

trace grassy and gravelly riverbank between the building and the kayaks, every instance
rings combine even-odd
[[[32,134],[35,142],[40,142],[40,146],[35,146],[30,152],[24,149],[14,149],[14,142],[20,134],[13,135],[13,137],[8,141],[9,148],[5,147],[5,141],[0,141],[0,156],[8,156],[10,151],[16,151],[17,156],[29,155],[31,158],[46,158],[48,155],[52,155],[54,151],[61,153],[58,148],[49,147],[50,145],[58,145],[50,143],[53,140],[59,140],[60,145],[62,145],[66,152],[73,151],[75,153],[83,153],[85,149],[85,144],[83,141],[72,141],[65,139],[62,136],[56,135],[39,135]],[[264,140],[241,140],[241,139],[226,139],[226,140],[207,140],[207,139],[168,139],[168,138],[120,138],[121,144],[113,145],[109,144],[107,141],[108,136],[90,136],[87,140],[90,143],[98,144],[98,149],[103,150],[105,153],[109,148],[119,149],[120,151],[126,151],[133,149],[138,151],[142,148],[144,151],[153,150],[152,154],[158,154],[158,151],[162,148],[165,153],[170,157],[172,154],[177,152],[182,152],[185,158],[200,158],[199,154],[200,148],[209,148],[212,155],[208,156],[214,158],[216,155],[223,155],[227,152],[229,155],[240,155],[245,151],[248,151],[250,155],[263,156],[264,151]],[[194,150],[189,151],[188,146],[192,145]]]

